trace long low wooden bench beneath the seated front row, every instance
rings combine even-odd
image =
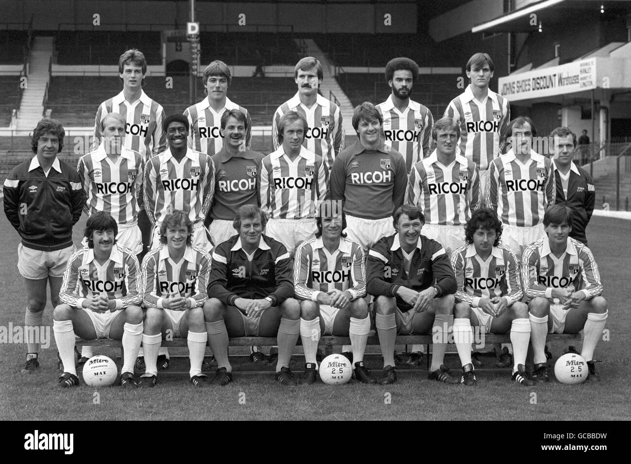
[[[580,333],[548,333],[546,343],[550,342],[580,342]],[[510,343],[510,333],[502,335],[495,335],[487,333],[484,337],[484,345],[495,345],[498,343]],[[341,347],[342,345],[350,345],[351,340],[348,336],[322,336],[320,338],[319,347],[324,348],[324,354],[333,354],[334,347]],[[451,344],[451,343],[450,343]],[[107,338],[100,338],[98,340],[80,340],[77,339],[76,346],[92,346],[92,347],[108,347],[108,348],[121,348],[122,343],[120,340],[108,340]],[[236,338],[230,338],[228,340],[228,346],[230,347],[272,347],[278,345],[275,337],[262,337],[262,336],[241,336]],[[302,345],[300,336],[298,336],[297,345]],[[376,335],[374,330],[370,331],[367,345],[379,345],[379,336]],[[396,338],[396,345],[425,345],[426,353],[429,353],[429,347],[432,345],[432,335],[398,335]],[[162,340],[163,347],[187,347],[186,338],[174,338],[173,340]],[[476,345],[474,344],[475,348]],[[532,356],[532,348],[528,348],[529,358]],[[425,356],[427,361],[427,369],[430,368],[430,356]],[[530,362],[531,364],[531,362]]]

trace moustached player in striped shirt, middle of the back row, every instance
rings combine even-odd
[[[297,112],[307,121],[302,143],[307,150],[322,157],[328,174],[333,160],[344,149],[344,128],[338,105],[318,93],[323,76],[319,60],[307,56],[298,61],[293,72],[298,93],[274,112],[272,141],[274,150],[278,150],[282,143],[279,139],[281,118],[289,111]]]

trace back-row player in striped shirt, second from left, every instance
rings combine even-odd
[[[196,152],[208,156],[219,153],[223,146],[224,134],[221,133],[221,116],[226,111],[239,110],[245,116],[245,138],[240,141],[243,148],[250,148],[252,143],[252,120],[247,109],[232,102],[227,97],[228,88],[232,82],[230,68],[223,61],[211,62],[202,76],[204,93],[208,97],[198,104],[184,110],[184,116],[189,120],[188,145]]]

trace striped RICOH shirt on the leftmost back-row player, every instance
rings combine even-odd
[[[164,109],[142,91],[133,103],[127,102],[121,92],[100,104],[94,121],[94,150],[101,144],[101,122],[110,113],[119,113],[127,120],[123,146],[143,155],[145,162],[167,148],[167,138],[162,130]]]

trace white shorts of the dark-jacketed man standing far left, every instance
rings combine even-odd
[[[64,277],[68,259],[76,248],[71,245],[61,250],[35,250],[18,244],[18,271],[24,278],[40,280],[47,277]]]

